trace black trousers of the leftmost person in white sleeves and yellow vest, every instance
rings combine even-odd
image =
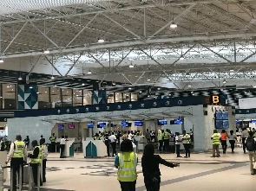
[[[10,167],[12,168],[12,181],[13,190],[16,190],[16,174],[18,175],[18,181],[20,180],[20,166],[22,166],[22,175],[23,175],[23,158],[12,158],[10,161]],[[22,177],[23,180],[23,177]],[[23,183],[23,182],[22,182]]]

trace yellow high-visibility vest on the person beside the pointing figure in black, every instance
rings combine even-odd
[[[118,154],[119,167],[117,171],[118,181],[137,180],[137,154],[135,152],[122,152]]]

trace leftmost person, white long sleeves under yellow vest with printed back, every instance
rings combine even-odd
[[[6,164],[10,162],[10,167],[12,168],[12,180],[13,180],[13,190],[16,190],[16,173],[19,175],[20,166],[27,163],[27,148],[26,144],[22,141],[20,135],[16,136],[16,141],[10,144],[9,155],[7,156]]]

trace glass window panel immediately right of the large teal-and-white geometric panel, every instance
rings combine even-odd
[[[49,87],[38,86],[38,109],[50,108]]]

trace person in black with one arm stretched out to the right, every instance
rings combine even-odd
[[[147,144],[141,158],[142,173],[147,191],[159,191],[161,183],[161,172],[159,164],[167,167],[179,167],[179,163],[167,162],[159,155],[154,155],[154,145]]]

